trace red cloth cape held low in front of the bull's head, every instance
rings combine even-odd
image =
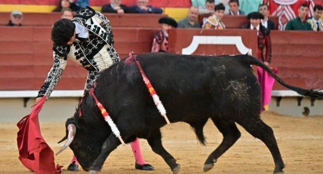
[[[61,167],[55,167],[54,152],[45,142],[40,132],[38,114],[46,101],[46,95],[33,107],[29,115],[18,123],[17,145],[19,160],[36,174],[61,173]]]

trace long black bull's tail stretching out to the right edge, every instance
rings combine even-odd
[[[248,66],[257,65],[257,66],[261,67],[263,70],[265,70],[267,73],[269,73],[270,76],[272,76],[279,84],[281,84],[282,86],[287,87],[291,90],[294,90],[295,92],[299,93],[300,95],[312,97],[314,99],[319,99],[319,100],[323,99],[323,92],[322,91],[318,91],[318,90],[314,90],[314,89],[304,89],[301,87],[294,87],[294,86],[286,84],[282,79],[280,79],[278,76],[276,76],[269,67],[267,67],[266,65],[264,65],[263,63],[258,61],[258,59],[254,58],[252,56],[239,55],[237,57],[239,60],[245,62]]]

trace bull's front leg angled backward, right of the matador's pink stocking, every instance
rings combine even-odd
[[[165,160],[167,165],[171,168],[173,174],[177,174],[180,171],[181,166],[177,164],[174,157],[164,149],[161,141],[160,130],[158,129],[153,132],[149,132],[147,141],[151,149]]]

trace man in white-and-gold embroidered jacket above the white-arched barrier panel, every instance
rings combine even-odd
[[[224,16],[225,7],[222,3],[219,3],[214,8],[214,14],[208,18],[203,19],[203,26],[202,28],[206,29],[224,29],[225,25],[221,21],[222,17]]]

